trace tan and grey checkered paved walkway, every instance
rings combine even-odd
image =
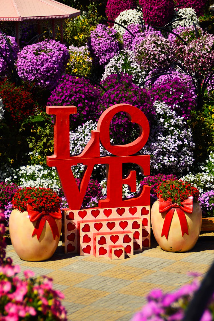
[[[161,250],[153,239],[152,247],[125,260],[70,256],[56,253],[45,262],[25,262],[7,246],[7,256],[22,271],[48,275],[54,289],[65,295],[63,304],[72,321],[129,321],[145,303],[145,296],[154,288],[173,291],[191,281],[188,272],[205,273],[214,260],[214,234],[200,236],[187,253]]]

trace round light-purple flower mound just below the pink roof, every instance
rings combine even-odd
[[[18,54],[19,77],[28,83],[52,90],[56,87],[69,59],[65,45],[45,40],[26,46]]]

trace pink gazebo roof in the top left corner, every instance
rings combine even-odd
[[[0,21],[71,18],[79,10],[54,0],[0,0]]]

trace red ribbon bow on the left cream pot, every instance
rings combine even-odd
[[[33,211],[33,207],[30,204],[27,204],[27,212],[31,222],[37,221],[32,236],[36,234],[37,239],[39,240],[45,221],[47,220],[51,227],[53,239],[55,239],[56,236],[59,237],[58,226],[55,219],[59,220],[62,217],[60,209],[58,212],[47,213],[42,211],[42,213],[40,213],[39,211]]]

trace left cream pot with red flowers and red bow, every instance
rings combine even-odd
[[[60,240],[60,203],[51,188],[25,187],[14,194],[9,231],[21,259],[43,261],[53,255]]]

